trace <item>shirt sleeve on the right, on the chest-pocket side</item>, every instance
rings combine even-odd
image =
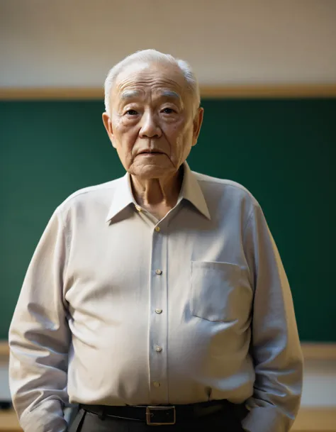
[[[254,284],[255,382],[243,427],[250,432],[287,432],[301,401],[303,358],[289,282],[257,204],[245,230],[245,253]]]

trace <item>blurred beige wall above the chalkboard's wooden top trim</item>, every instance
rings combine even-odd
[[[125,55],[201,84],[336,83],[335,0],[0,0],[0,87],[96,87]]]

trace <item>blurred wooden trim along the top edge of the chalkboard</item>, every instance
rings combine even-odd
[[[335,84],[246,84],[201,86],[201,96],[208,99],[234,98],[308,98],[336,97]],[[0,88],[0,100],[80,100],[101,99],[99,87],[22,87]]]

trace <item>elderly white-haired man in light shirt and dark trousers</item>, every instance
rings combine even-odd
[[[127,173],[69,196],[30,262],[9,335],[23,430],[66,431],[74,404],[71,432],[288,431],[291,291],[256,199],[186,163],[203,119],[193,72],[145,50],[105,92]]]

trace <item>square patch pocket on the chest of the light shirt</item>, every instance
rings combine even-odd
[[[191,261],[191,314],[208,321],[242,318],[241,270],[228,262]]]

